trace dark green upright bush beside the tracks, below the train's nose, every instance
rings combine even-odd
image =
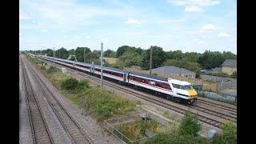
[[[179,126],[180,134],[196,136],[199,130],[201,130],[201,125],[198,122],[198,118],[194,114],[186,112]]]

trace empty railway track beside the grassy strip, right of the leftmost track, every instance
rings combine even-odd
[[[90,138],[82,131],[82,128],[78,123],[72,118],[72,116],[65,110],[62,103],[55,98],[54,94],[46,86],[45,82],[42,81],[38,75],[38,71],[34,70],[30,64],[27,64],[30,67],[31,74],[38,83],[38,87],[42,90],[43,95],[46,98],[46,101],[50,104],[50,107],[54,110],[59,122],[61,122],[64,130],[70,137],[70,141],[73,143],[93,143]]]

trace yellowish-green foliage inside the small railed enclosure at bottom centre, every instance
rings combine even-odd
[[[137,140],[146,136],[146,129],[156,132],[160,124],[155,120],[142,121],[141,119],[136,119],[134,122],[122,123],[117,127],[118,130],[122,134],[125,134],[130,140]]]

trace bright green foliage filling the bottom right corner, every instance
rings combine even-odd
[[[222,135],[215,135],[213,143],[233,144],[237,143],[237,128],[234,122],[224,122],[221,125]]]

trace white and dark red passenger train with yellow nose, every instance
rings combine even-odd
[[[52,58],[39,55],[46,61],[55,62],[59,65],[69,67],[87,74],[100,76],[101,66],[83,62],[74,62],[62,58]],[[172,78],[162,78],[150,74],[139,74],[126,70],[102,66],[103,78],[114,80],[126,86],[134,86],[138,89],[153,91],[155,94],[163,95],[166,99],[174,102],[193,104],[198,101],[198,93],[190,82],[179,81]]]

